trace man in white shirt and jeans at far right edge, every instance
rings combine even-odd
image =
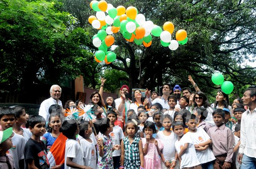
[[[249,108],[242,114],[237,160],[241,169],[256,169],[256,89],[246,89],[242,101]]]

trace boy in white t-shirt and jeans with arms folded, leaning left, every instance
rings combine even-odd
[[[197,158],[202,165],[202,169],[213,169],[215,157],[212,150],[209,148],[212,140],[203,128],[196,128],[196,121],[196,115],[194,114],[191,114],[190,117],[186,118],[186,125],[188,126],[189,131],[185,136],[190,137],[192,140],[192,143],[196,148]]]

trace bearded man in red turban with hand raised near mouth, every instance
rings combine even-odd
[[[120,88],[120,98],[114,100],[116,104],[116,109],[119,111],[119,116],[123,116],[127,121],[127,111],[129,110],[130,103],[132,101],[129,100],[129,87],[127,85],[123,85]]]

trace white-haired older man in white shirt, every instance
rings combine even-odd
[[[50,117],[49,114],[49,107],[51,105],[60,105],[62,106],[62,102],[59,100],[61,95],[61,88],[59,85],[52,85],[50,88],[50,98],[44,100],[39,108],[39,115],[42,116],[44,119],[46,119],[46,122],[48,122],[48,119]]]

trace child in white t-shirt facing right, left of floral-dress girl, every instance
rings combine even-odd
[[[96,169],[96,149],[95,143],[90,138],[92,134],[92,128],[89,123],[84,122],[79,125],[79,135],[82,136],[80,140],[80,145],[82,148],[82,153],[84,154],[84,165],[90,166],[92,169]]]

